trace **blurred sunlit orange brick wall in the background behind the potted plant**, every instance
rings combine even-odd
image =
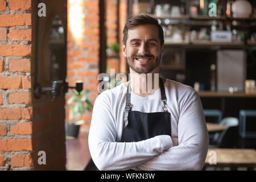
[[[90,90],[89,100],[92,104],[98,96],[99,22],[99,0],[68,0],[67,81],[69,85],[75,85],[76,80],[82,80],[84,89]],[[68,111],[66,106],[66,121]],[[82,115],[85,124],[81,126],[81,132],[89,131],[91,118],[92,111]]]

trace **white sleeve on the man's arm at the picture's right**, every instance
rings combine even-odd
[[[191,88],[192,89],[192,88]],[[137,170],[201,170],[208,151],[209,136],[200,97],[195,92],[180,103],[179,145],[138,166]]]

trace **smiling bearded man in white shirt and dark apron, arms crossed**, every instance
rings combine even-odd
[[[190,86],[159,79],[163,44],[156,19],[142,14],[125,24],[130,81],[102,92],[93,107],[88,140],[98,169],[203,168],[209,138],[200,97]]]

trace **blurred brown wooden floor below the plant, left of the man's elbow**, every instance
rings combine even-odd
[[[83,171],[90,160],[88,133],[80,133],[76,139],[66,139],[66,169]]]

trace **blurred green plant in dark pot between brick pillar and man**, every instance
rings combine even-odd
[[[81,115],[86,111],[92,109],[92,104],[88,100],[89,90],[82,90],[77,92],[73,90],[68,92],[68,95],[72,95],[68,99],[69,106],[69,121],[65,123],[66,135],[67,137],[75,137],[79,134],[80,125],[84,123],[84,120],[81,119]]]

